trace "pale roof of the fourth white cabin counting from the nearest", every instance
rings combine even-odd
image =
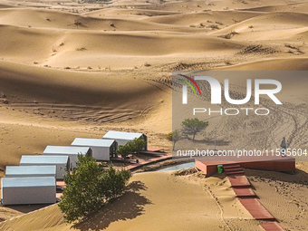
[[[53,146],[48,145],[43,150],[43,154],[59,154],[59,155],[78,155],[86,154],[90,147],[73,147],[73,146]]]

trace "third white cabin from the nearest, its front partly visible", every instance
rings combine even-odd
[[[63,179],[63,175],[70,167],[69,156],[44,156],[44,155],[23,155],[20,160],[21,166],[56,166],[56,179]]]

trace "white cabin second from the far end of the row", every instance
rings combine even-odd
[[[110,161],[111,158],[117,156],[118,143],[115,140],[76,138],[71,145],[90,147],[92,157],[96,160]]]

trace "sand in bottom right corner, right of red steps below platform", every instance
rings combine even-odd
[[[276,217],[285,230],[306,230],[308,193],[307,162],[296,163],[295,175],[245,170],[260,202]],[[265,189],[266,188],[266,189]]]

